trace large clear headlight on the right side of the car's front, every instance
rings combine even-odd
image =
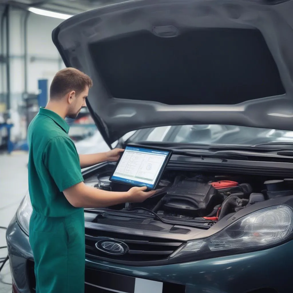
[[[205,239],[188,241],[170,259],[197,260],[257,251],[280,245],[292,238],[292,209],[278,205],[261,209]]]

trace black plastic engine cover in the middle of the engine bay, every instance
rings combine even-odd
[[[163,209],[171,213],[204,217],[222,201],[223,196],[211,184],[198,178],[186,178],[167,191],[163,198]]]

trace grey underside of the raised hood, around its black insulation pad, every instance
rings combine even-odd
[[[194,0],[127,1],[67,19],[53,31],[52,39],[66,66],[80,69],[92,77],[94,86],[88,96],[88,108],[108,145],[132,130],[175,124],[228,124],[293,130],[293,20],[288,14],[292,9],[292,1],[278,5],[237,0],[229,3]],[[203,28],[257,31],[260,33],[257,38],[264,38],[269,50],[263,48],[263,53],[271,54],[277,66],[275,83],[280,78],[285,92],[257,99],[248,95],[247,100],[244,98],[236,104],[223,97],[219,101],[215,95],[207,105],[204,104],[205,97],[198,97],[196,92],[193,104],[185,104],[183,97],[177,97],[167,105],[162,103],[160,97],[140,100],[139,96],[132,99],[125,98],[125,95],[123,98],[113,96],[103,81],[107,76],[102,76],[101,68],[95,65],[97,53],[90,52],[89,46],[93,42],[117,40],[142,31],[153,35],[156,33],[154,28],[165,29],[167,33],[170,28],[171,33],[175,30],[179,35],[185,29]],[[119,55],[119,46],[116,47],[115,52],[118,54],[115,55]],[[261,53],[258,52],[259,57]],[[260,64],[260,67],[264,64]],[[121,70],[119,64],[114,64],[113,69]],[[213,68],[209,70],[212,72]],[[233,70],[236,74],[237,68]],[[263,79],[267,79],[265,71],[263,74]],[[209,87],[211,82],[214,82],[212,78],[207,79],[206,86]],[[239,80],[234,82],[241,83]],[[117,81],[114,85],[117,86]],[[247,84],[244,88],[252,89],[254,86]]]

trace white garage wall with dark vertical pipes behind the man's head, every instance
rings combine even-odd
[[[0,15],[4,6],[0,5]],[[25,139],[26,120],[23,94],[38,93],[38,80],[48,79],[49,86],[55,73],[64,68],[59,53],[51,38],[52,30],[63,20],[29,13],[27,20],[27,82],[25,86],[25,50],[24,24],[27,11],[10,8],[9,44],[10,44],[10,111],[9,116],[14,127],[11,129],[12,141]],[[4,22],[5,23],[5,22]],[[1,32],[0,32],[1,33]],[[6,28],[4,28],[4,50],[0,52],[6,57]],[[6,65],[0,63],[0,118],[6,110]],[[1,120],[1,119],[0,119]],[[2,119],[3,120],[3,119]]]

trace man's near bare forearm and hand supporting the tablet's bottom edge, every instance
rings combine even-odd
[[[143,202],[156,193],[154,190],[145,192],[146,189],[146,187],[133,187],[127,192],[113,192],[93,188],[80,182],[63,190],[63,193],[74,207],[99,208],[125,202]]]

